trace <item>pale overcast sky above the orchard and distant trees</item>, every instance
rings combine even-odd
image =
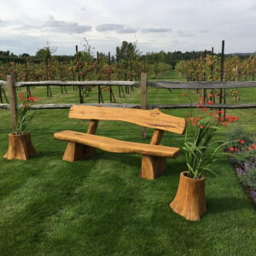
[[[256,51],[256,0],[0,0],[0,50],[34,55],[46,42],[73,55],[84,39],[112,54],[122,41],[147,51]]]

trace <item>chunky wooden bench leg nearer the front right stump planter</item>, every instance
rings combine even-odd
[[[166,171],[166,157],[143,155],[140,177],[154,179]]]

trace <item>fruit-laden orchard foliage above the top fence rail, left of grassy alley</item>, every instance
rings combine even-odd
[[[0,64],[0,80],[6,75],[14,74],[16,81],[84,81],[84,80],[139,80],[142,72],[147,72],[145,61],[115,61],[108,62],[105,58],[94,61],[60,62],[53,58],[40,63],[26,61],[25,63],[10,62]]]

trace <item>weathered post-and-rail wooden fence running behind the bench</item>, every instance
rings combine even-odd
[[[2,82],[2,83],[1,83]],[[5,84],[3,81],[0,81],[0,85]],[[90,106],[104,106],[110,108],[142,108],[142,109],[171,109],[171,108],[198,108],[196,103],[182,103],[182,104],[147,104],[147,90],[148,86],[159,88],[159,89],[230,89],[230,88],[251,88],[256,87],[256,81],[247,81],[247,82],[148,82],[147,75],[142,73],[141,82],[133,81],[41,81],[41,82],[18,82],[15,83],[13,76],[7,77],[7,88],[9,90],[9,104],[0,104],[0,108],[9,108],[12,116],[13,127],[16,124],[16,115],[17,115],[17,97],[16,89],[19,87],[26,86],[78,86],[79,88],[83,86],[140,86],[141,87],[141,102],[140,104],[118,104],[118,103],[90,103],[83,105]],[[225,96],[225,93],[224,93]],[[44,104],[44,105],[33,105],[32,109],[61,109],[61,108],[70,108],[73,104]],[[256,108],[256,103],[247,103],[247,104],[225,104],[220,101],[220,103],[213,103],[210,106],[207,104],[202,104],[201,106],[207,108],[218,108],[218,109],[240,109],[240,108]]]

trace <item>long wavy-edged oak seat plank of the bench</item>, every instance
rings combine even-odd
[[[102,150],[115,153],[136,153],[158,157],[176,158],[180,150],[179,148],[161,145],[119,141],[117,139],[91,135],[79,131],[61,131],[55,133],[54,137],[58,140],[80,143],[93,148],[100,148]]]

